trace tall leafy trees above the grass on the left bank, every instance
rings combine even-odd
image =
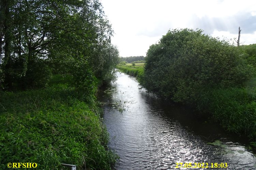
[[[0,8],[2,89],[44,87],[52,72],[87,89],[85,79],[113,78],[118,51],[99,1],[2,0]]]

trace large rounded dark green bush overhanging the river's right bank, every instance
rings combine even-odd
[[[240,49],[202,34],[172,30],[150,46],[143,85],[174,101],[195,103],[212,88],[241,86],[253,73]]]

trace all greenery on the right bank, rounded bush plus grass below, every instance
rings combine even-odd
[[[236,47],[202,30],[172,30],[150,46],[141,84],[256,141],[255,44]],[[254,77],[254,78],[253,78]],[[245,83],[246,82],[246,83]]]

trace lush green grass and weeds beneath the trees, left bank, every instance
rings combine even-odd
[[[96,100],[55,76],[45,89],[0,91],[0,169],[7,163],[37,163],[37,169],[110,169],[117,156]]]

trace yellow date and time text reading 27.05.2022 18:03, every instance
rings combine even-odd
[[[175,163],[175,168],[227,168],[227,163]]]

